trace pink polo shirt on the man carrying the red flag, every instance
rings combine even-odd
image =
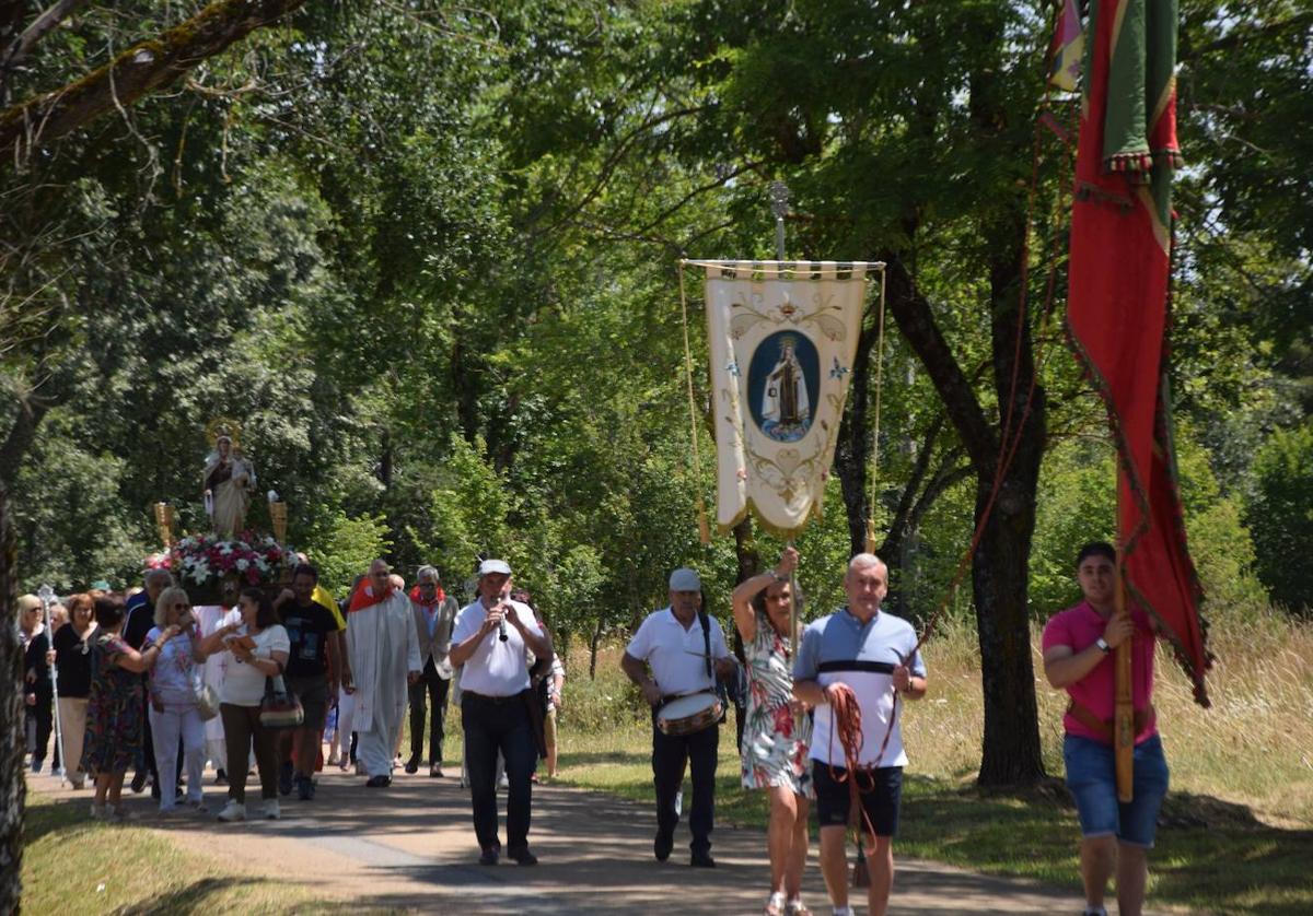
[[[1153,627],[1149,626],[1149,617],[1142,610],[1132,612],[1130,618],[1136,623],[1136,633],[1130,640],[1130,699],[1136,710],[1142,710],[1153,699],[1154,633]],[[1088,601],[1082,601],[1077,606],[1067,608],[1049,618],[1049,622],[1044,626],[1044,651],[1048,652],[1053,646],[1066,646],[1073,652],[1082,652],[1103,635],[1107,625],[1108,622],[1099,615],[1099,612],[1090,606]],[[1067,696],[1071,699],[1088,709],[1104,722],[1112,720],[1116,705],[1116,665],[1113,656],[1115,652],[1108,652],[1108,657],[1099,661],[1094,667],[1094,671],[1075,684],[1069,684],[1066,688]],[[1104,743],[1102,735],[1081,724],[1071,715],[1062,717],[1062,726],[1069,735],[1079,735],[1081,738],[1090,738]],[[1144,730],[1136,735],[1136,744],[1141,744],[1157,734],[1158,723],[1155,719],[1150,719],[1145,723]]]

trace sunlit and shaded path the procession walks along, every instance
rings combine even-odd
[[[209,776],[209,774],[207,774]],[[38,791],[74,802],[50,777],[30,777]],[[150,795],[127,799],[138,823],[180,845],[232,864],[235,870],[284,877],[320,898],[358,907],[420,912],[756,913],[769,875],[759,829],[718,827],[718,867],[688,867],[687,824],[668,862],[653,858],[655,814],[609,795],[534,786],[529,840],[541,864],[481,867],[473,841],[469,793],[456,780],[399,776],[391,789],[366,789],[361,777],[326,773],[314,802],[282,799],[284,819],[219,824],[210,818],[155,815]],[[219,787],[206,786],[213,810]],[[256,789],[256,793],[259,789]],[[76,793],[87,803],[87,791]],[[252,806],[259,808],[259,802]],[[504,804],[503,804],[504,827]],[[504,836],[503,836],[504,841]],[[864,903],[864,891],[853,903]],[[815,850],[805,899],[827,913]],[[890,912],[1074,913],[1069,891],[989,878],[936,862],[902,860]],[[859,907],[865,912],[865,907]]]

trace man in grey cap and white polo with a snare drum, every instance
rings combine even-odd
[[[701,608],[702,584],[697,573],[688,568],[675,570],[670,576],[670,606],[647,615],[620,667],[653,706],[653,782],[656,786],[653,852],[656,861],[664,862],[675,845],[676,798],[688,764],[693,777],[689,865],[712,869],[716,867],[712,827],[721,731],[720,713],[714,710],[720,702],[716,678],[731,675],[734,660],[725,646],[721,625],[714,617],[700,613]]]

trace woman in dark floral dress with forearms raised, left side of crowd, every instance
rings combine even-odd
[[[118,797],[123,773],[142,743],[142,673],[155,667],[164,643],[179,634],[168,626],[140,652],[123,642],[123,605],[96,598],[96,631],[91,647],[91,696],[81,769],[96,777],[92,818],[122,818]]]

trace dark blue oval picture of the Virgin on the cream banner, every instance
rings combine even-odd
[[[815,344],[798,331],[777,331],[758,344],[747,373],[748,411],[776,442],[797,442],[811,428],[821,394]]]

